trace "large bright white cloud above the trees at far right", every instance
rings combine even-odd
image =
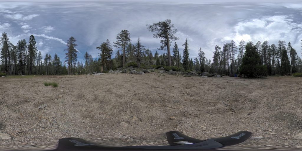
[[[300,38],[302,37],[302,25],[294,23],[288,15],[266,16],[262,18],[240,21],[234,27],[231,36],[223,37],[221,41],[234,40],[237,44],[240,40],[261,42],[268,40],[270,44],[278,40],[290,41],[294,48],[300,50]]]

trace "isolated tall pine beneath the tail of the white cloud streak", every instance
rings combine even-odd
[[[77,50],[76,46],[77,44],[75,43],[76,39],[74,37],[70,37],[69,40],[67,40],[67,49],[64,51],[67,51],[65,53],[65,62],[67,62],[67,73],[70,75],[72,74],[72,66],[73,64],[77,61]]]

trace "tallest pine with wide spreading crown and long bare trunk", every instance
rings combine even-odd
[[[170,53],[170,40],[178,40],[179,38],[174,36],[174,34],[177,32],[177,30],[174,28],[174,25],[171,24],[171,20],[167,19],[165,21],[161,21],[152,25],[147,25],[148,30],[150,32],[156,32],[153,34],[154,38],[157,39],[163,39],[160,40],[160,43],[162,45],[160,46],[160,50],[165,50],[165,47],[167,47],[168,51],[168,65],[172,65],[171,60],[171,53]]]

